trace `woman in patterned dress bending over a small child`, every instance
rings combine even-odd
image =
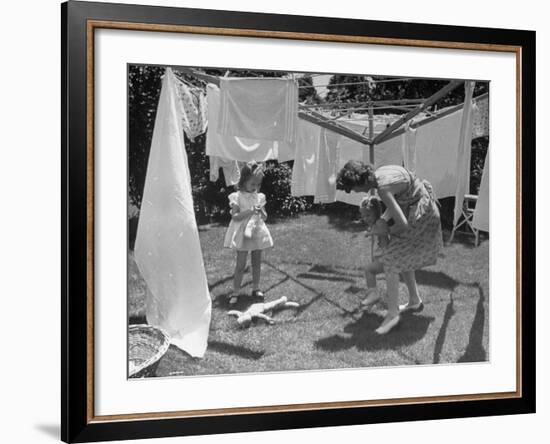
[[[338,173],[338,189],[356,192],[377,190],[386,205],[385,218],[392,219],[390,240],[380,259],[386,275],[388,313],[379,334],[388,333],[400,320],[399,313],[423,308],[418,295],[415,270],[434,265],[443,246],[441,220],[432,186],[397,165],[374,170],[364,162],[350,160]],[[399,306],[399,274],[409,291],[409,302]],[[377,292],[364,304],[379,299]]]

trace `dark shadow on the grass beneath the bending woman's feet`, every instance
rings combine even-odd
[[[435,318],[424,315],[405,314],[401,323],[385,336],[378,335],[375,330],[380,326],[383,317],[375,313],[363,313],[355,322],[344,327],[344,333],[319,339],[315,347],[325,351],[340,351],[355,347],[360,351],[392,350],[405,345],[411,345],[424,337],[428,327]]]

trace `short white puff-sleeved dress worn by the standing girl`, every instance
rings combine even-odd
[[[263,193],[236,191],[229,195],[229,206],[233,208],[238,205],[240,211],[250,210],[256,205],[263,207],[265,202],[265,194]],[[251,216],[251,218],[253,217]],[[224,247],[241,251],[265,250],[273,247],[271,233],[261,218],[257,218],[257,221],[255,221],[251,237],[244,235],[246,224],[251,218],[238,221],[231,219],[225,233]]]

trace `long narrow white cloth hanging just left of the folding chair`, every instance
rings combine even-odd
[[[472,95],[475,82],[465,82],[464,107],[460,123],[460,139],[456,156],[457,181],[455,191],[455,209],[453,226],[456,227],[458,219],[462,215],[464,195],[470,188],[470,157],[472,153]],[[436,190],[437,193],[437,190]]]

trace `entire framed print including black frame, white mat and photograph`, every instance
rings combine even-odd
[[[61,12],[65,442],[535,411],[534,32]]]

